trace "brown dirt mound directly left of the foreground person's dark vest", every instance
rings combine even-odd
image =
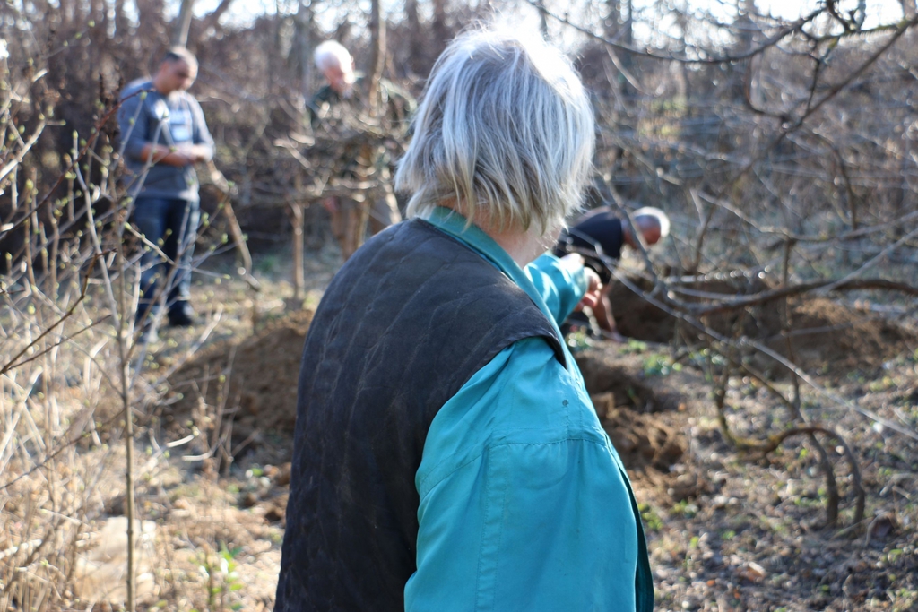
[[[252,336],[219,342],[203,351],[170,380],[182,397],[164,419],[184,426],[203,399],[207,406],[222,404],[230,412],[235,410],[232,438],[236,444],[245,441],[257,446],[274,432],[292,437],[299,361],[311,321],[311,311],[297,311]]]

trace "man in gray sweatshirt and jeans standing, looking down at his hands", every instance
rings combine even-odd
[[[125,144],[123,180],[134,198],[132,220],[162,250],[148,244],[140,260],[141,324],[162,305],[162,295],[170,325],[194,323],[188,304],[200,217],[194,164],[214,154],[201,106],[185,91],[196,76],[195,56],[176,48],[166,53],[151,80],[130,83],[121,93],[118,126]],[[174,266],[166,266],[163,255]]]

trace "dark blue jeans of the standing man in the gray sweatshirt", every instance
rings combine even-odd
[[[140,303],[138,320],[152,317],[162,304],[162,294],[170,312],[185,308],[191,295],[191,257],[195,250],[198,202],[159,197],[137,198],[134,225],[175,267],[166,265],[160,254],[143,245],[140,258]],[[161,242],[162,240],[162,242]],[[162,283],[168,283],[163,286]]]

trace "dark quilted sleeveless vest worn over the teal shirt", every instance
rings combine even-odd
[[[275,611],[405,609],[431,421],[499,351],[533,336],[565,362],[532,299],[424,221],[388,228],[347,261],[303,351]]]

